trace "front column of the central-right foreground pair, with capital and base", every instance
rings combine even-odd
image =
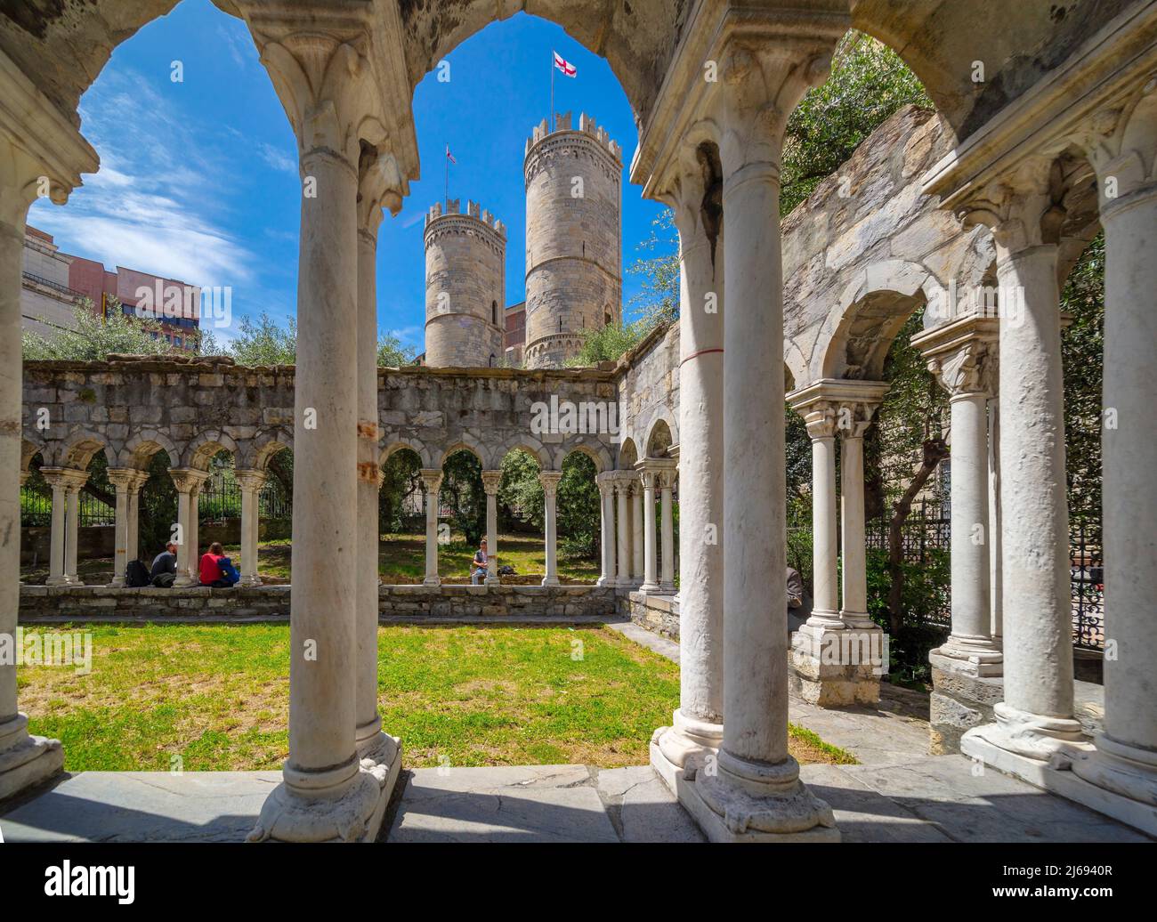
[[[788,753],[787,532],[783,467],[783,276],[780,146],[787,118],[821,80],[847,28],[834,7],[808,28],[780,13],[729,22],[707,57],[720,62],[724,326],[724,724],[714,770],[697,770],[680,803],[713,841],[839,839],[831,807]],[[781,30],[782,29],[782,30]],[[687,773],[685,773],[687,774]]]

